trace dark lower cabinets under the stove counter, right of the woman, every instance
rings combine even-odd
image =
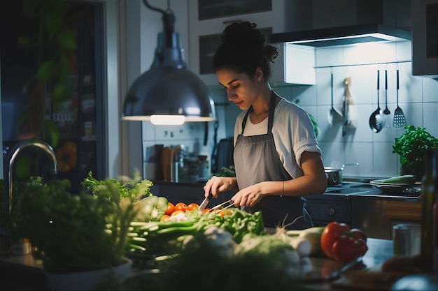
[[[367,189],[345,185],[341,191],[327,189],[323,195],[306,196],[306,208],[315,226],[337,221],[359,228],[367,237],[392,239],[393,225],[420,223],[419,193],[398,195],[382,193],[372,186]]]

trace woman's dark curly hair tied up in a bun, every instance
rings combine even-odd
[[[237,73],[252,77],[257,67],[262,68],[264,77],[271,76],[270,63],[278,56],[278,50],[266,43],[263,33],[250,22],[229,24],[220,36],[220,45],[213,57],[213,69],[231,68]]]

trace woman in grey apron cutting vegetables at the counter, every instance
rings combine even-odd
[[[222,33],[213,68],[228,99],[243,110],[234,126],[236,177],[213,176],[204,191],[213,197],[237,191],[234,205],[262,211],[264,227],[300,230],[313,226],[302,196],[324,193],[327,178],[309,115],[269,86],[278,52],[265,42],[250,22]]]

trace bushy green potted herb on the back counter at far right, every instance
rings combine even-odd
[[[421,179],[425,170],[425,152],[438,148],[438,139],[425,128],[404,126],[404,129],[393,143],[393,153],[400,155],[400,174],[414,174]]]

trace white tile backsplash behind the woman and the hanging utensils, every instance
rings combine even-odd
[[[297,103],[312,114],[318,123],[318,142],[323,150],[325,166],[344,167],[344,177],[383,178],[399,174],[399,156],[393,154],[395,137],[404,128],[393,126],[397,107],[396,69],[400,70],[399,105],[408,125],[425,127],[438,137],[438,81],[411,74],[411,42],[320,47],[316,49],[316,85],[273,86],[274,91]],[[388,91],[385,91],[385,69],[388,70]],[[299,70],[299,68],[297,68]],[[381,70],[379,105],[386,107],[386,93],[390,126],[374,133],[369,127],[369,117],[377,108],[377,70]],[[341,112],[346,86],[351,77],[351,94],[357,112],[357,126],[342,136],[340,123],[332,127],[327,114],[331,108],[330,73],[333,73],[334,107]],[[217,141],[232,136],[234,120],[240,110],[227,100],[222,88],[211,88],[211,95],[218,116]],[[229,103],[229,105],[227,105]],[[191,151],[213,150],[214,123],[209,123],[208,145],[204,142],[204,124],[184,124],[181,127],[153,126],[143,122],[143,147],[153,144],[185,144]],[[172,136],[170,136],[172,135]],[[146,152],[146,151],[145,151]]]

